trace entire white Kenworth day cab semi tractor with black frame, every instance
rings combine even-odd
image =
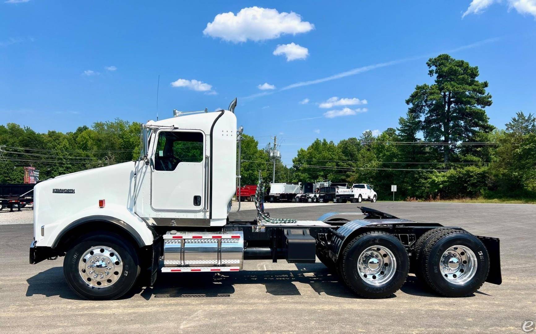
[[[232,272],[247,259],[313,263],[318,257],[366,298],[390,296],[410,271],[451,297],[471,294],[485,281],[501,284],[499,240],[460,227],[366,207],[317,220],[273,218],[264,211],[260,183],[257,218],[230,220],[240,180],[235,106],[236,99],[228,110],[175,111],[173,118],[149,121],[137,161],[36,184],[29,262],[63,256],[67,284],[93,300],[152,286],[159,272]]]

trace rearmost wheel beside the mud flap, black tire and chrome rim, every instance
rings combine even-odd
[[[489,255],[477,237],[451,229],[436,233],[425,242],[419,265],[432,290],[448,297],[464,297],[486,281]]]

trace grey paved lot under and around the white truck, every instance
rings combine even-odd
[[[355,204],[272,208],[272,217],[316,219]],[[356,298],[322,263],[247,261],[230,274],[160,274],[153,288],[115,301],[80,300],[62,261],[28,264],[31,225],[0,226],[1,332],[523,333],[536,320],[536,206],[378,202],[398,217],[456,225],[501,238],[503,284],[467,298],[442,298],[410,277],[392,298]],[[17,214],[0,213],[4,217]],[[254,211],[234,218],[248,219]],[[21,216],[20,216],[21,217]],[[31,216],[28,216],[31,217]],[[13,218],[9,218],[13,219]]]

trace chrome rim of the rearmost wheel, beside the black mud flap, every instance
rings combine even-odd
[[[477,273],[477,256],[467,246],[452,246],[445,250],[440,259],[443,278],[456,285],[464,285]]]

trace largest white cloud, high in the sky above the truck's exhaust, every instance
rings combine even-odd
[[[314,28],[294,12],[279,13],[276,9],[255,6],[243,8],[236,15],[233,12],[218,14],[211,23],[207,23],[203,34],[239,43],[271,40],[282,34],[306,33]]]

